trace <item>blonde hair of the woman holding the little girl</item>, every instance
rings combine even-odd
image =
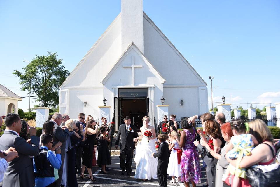
[[[273,137],[264,121],[255,119],[248,122],[248,126],[250,127],[250,134],[253,134],[259,143],[264,141],[272,142]]]

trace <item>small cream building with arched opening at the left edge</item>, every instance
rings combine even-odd
[[[18,101],[21,100],[20,96],[0,84],[0,116],[7,115],[8,113],[17,114]]]

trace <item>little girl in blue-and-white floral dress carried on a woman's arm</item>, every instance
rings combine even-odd
[[[248,125],[247,125],[248,126]],[[222,178],[222,181],[226,181],[227,177],[232,174],[234,178],[232,180],[232,187],[239,186],[240,178],[246,179],[245,169],[239,168],[239,163],[245,155],[251,155],[251,150],[254,145],[258,144],[255,136],[252,134],[246,134],[248,131],[246,124],[243,120],[232,120],[231,129],[234,136],[231,137],[230,143],[227,146],[227,157],[230,159],[237,159],[236,166],[229,165]]]

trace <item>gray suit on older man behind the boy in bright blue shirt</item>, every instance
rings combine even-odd
[[[68,137],[69,137],[69,130],[65,129],[65,131],[63,132],[63,130],[60,128],[60,126],[55,124],[55,132],[53,133],[53,145],[55,145],[58,142],[62,143],[62,145],[60,147],[61,166],[60,166],[60,169],[58,170],[59,178],[56,181],[57,187],[60,187],[60,183],[61,183],[61,179],[62,179],[63,163],[64,163],[64,157],[65,157],[65,144],[66,144],[66,140],[68,139]]]

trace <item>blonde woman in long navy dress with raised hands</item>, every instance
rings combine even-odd
[[[78,182],[75,173],[76,166],[76,147],[82,141],[85,141],[85,134],[83,132],[83,125],[80,125],[82,136],[73,131],[75,129],[74,121],[67,120],[65,126],[69,128],[69,138],[66,141],[65,159],[63,165],[63,174],[61,184],[65,187],[77,187]]]

